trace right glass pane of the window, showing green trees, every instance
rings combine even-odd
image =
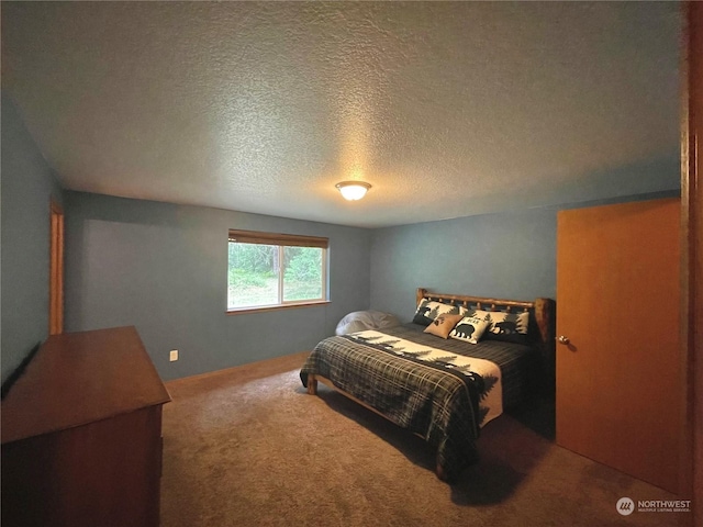
[[[322,299],[322,253],[317,247],[283,247],[283,301]]]

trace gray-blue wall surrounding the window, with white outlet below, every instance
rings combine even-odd
[[[368,229],[82,192],[65,202],[66,330],[134,325],[166,380],[312,349],[369,307]],[[225,314],[230,228],[328,237],[332,302]]]

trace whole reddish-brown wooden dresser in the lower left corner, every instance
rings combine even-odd
[[[2,401],[2,526],[158,526],[169,401],[134,327],[49,337]]]

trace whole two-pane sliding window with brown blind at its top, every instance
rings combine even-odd
[[[327,238],[230,231],[227,311],[325,302]]]

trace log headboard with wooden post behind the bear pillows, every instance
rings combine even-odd
[[[521,300],[488,299],[482,296],[467,296],[464,294],[434,293],[424,288],[417,288],[416,304],[420,304],[422,299],[483,311],[528,312],[531,314],[531,340],[542,356],[546,388],[550,393],[554,393],[556,367],[555,339],[557,335],[557,313],[556,302],[554,300],[535,299],[532,302],[525,302]],[[534,330],[535,326],[536,330]]]

